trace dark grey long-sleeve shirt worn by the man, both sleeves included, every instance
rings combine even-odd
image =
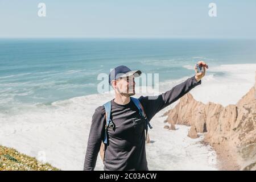
[[[177,101],[189,90],[201,84],[195,76],[188,78],[171,90],[160,94],[155,99],[148,96],[139,98],[149,121],[158,111]],[[108,129],[109,145],[105,150],[104,170],[148,170],[145,133],[146,121],[140,117],[132,101],[119,105],[113,100],[111,119],[114,129]],[[85,155],[84,170],[94,170],[106,125],[104,106],[97,107],[92,117],[89,139]]]

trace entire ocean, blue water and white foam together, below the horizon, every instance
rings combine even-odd
[[[44,154],[61,169],[82,169],[92,114],[114,97],[98,93],[100,73],[118,65],[158,73],[164,92],[193,76],[203,60],[209,69],[192,95],[236,104],[254,84],[255,50],[250,39],[0,39],[0,144]],[[149,168],[216,169],[212,150],[187,138],[187,127],[162,131],[164,111],[152,119]]]

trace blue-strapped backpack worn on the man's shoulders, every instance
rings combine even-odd
[[[150,127],[150,129],[152,129],[152,126],[150,125],[150,122],[147,118],[147,115],[144,111],[144,108],[141,104],[141,102],[139,102],[138,98],[134,98],[134,97],[130,97],[131,101],[135,104],[135,106],[137,106],[138,110],[139,110],[139,115],[141,115],[141,117],[143,117],[146,120],[146,140],[147,140],[147,130],[148,127]],[[104,162],[104,156],[105,156],[105,150],[106,150],[106,146],[108,145],[108,128],[113,128],[114,127],[114,123],[112,122],[112,120],[110,119],[110,115],[111,115],[111,101],[106,102],[104,105],[105,107],[105,117],[106,117],[106,125],[105,125],[105,131],[104,131],[104,139],[101,142],[101,148],[100,148],[100,156],[101,156],[101,160],[102,162]]]

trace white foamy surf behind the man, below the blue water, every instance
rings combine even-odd
[[[188,69],[193,69],[187,66]],[[211,72],[222,71],[224,76]],[[222,104],[236,104],[254,85],[256,64],[221,65],[209,68],[202,84],[191,90],[193,97],[203,103],[209,101]],[[194,71],[191,70],[191,76]],[[160,92],[184,81],[171,80],[160,83]],[[82,170],[90,122],[94,109],[114,97],[113,92],[75,97],[54,102],[51,106],[31,107],[26,113],[6,116],[0,114],[0,144],[13,147],[19,152],[35,156],[63,170]],[[135,95],[139,97],[139,94]],[[216,154],[198,139],[187,137],[189,127],[177,126],[176,131],[163,129],[165,111],[160,111],[151,120],[150,138],[146,145],[148,168],[150,170],[217,170]],[[98,156],[96,169],[103,165]]]

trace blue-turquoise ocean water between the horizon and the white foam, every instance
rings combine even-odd
[[[118,65],[159,73],[164,82],[192,75],[186,66],[199,60],[255,63],[255,50],[256,40],[1,39],[0,112],[97,93],[97,76]]]

